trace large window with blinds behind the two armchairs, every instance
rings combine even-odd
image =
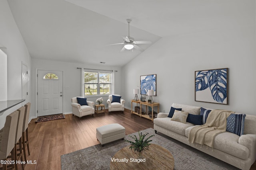
[[[84,71],[84,95],[109,95],[112,88],[112,72]]]

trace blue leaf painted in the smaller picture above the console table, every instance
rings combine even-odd
[[[148,90],[156,91],[156,76],[148,75],[141,81],[141,94],[147,94]]]

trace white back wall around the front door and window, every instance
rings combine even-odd
[[[100,65],[92,65],[92,64],[85,64],[85,63],[68,63],[68,62],[61,62],[61,61],[49,61],[49,60],[40,60],[40,59],[32,59],[32,106],[30,112],[31,118],[36,117],[36,69],[42,70],[58,70],[63,71],[63,113],[72,113],[71,107],[71,98],[80,96],[80,84],[81,84],[81,69],[77,68],[91,68],[91,69],[102,69],[102,70],[117,70],[115,72],[115,92],[116,94],[121,94],[121,80],[122,80],[122,71],[120,67],[112,67],[112,66],[100,66]],[[69,89],[66,89],[69,87]],[[86,97],[88,101],[92,101],[96,103],[97,97]],[[103,104],[107,106],[107,99],[108,96],[103,97]]]

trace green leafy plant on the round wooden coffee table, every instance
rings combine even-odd
[[[138,132],[138,134],[139,134],[139,137],[137,137],[136,135],[129,136],[132,139],[134,139],[134,141],[129,141],[129,140],[125,140],[125,141],[131,144],[131,146],[129,147],[130,149],[134,150],[134,152],[138,154],[138,156],[141,156],[142,152],[148,149],[149,145],[151,145],[150,142],[152,142],[152,140],[150,140],[150,138],[153,137],[154,135],[151,135],[146,138],[148,133],[142,134],[142,132]]]

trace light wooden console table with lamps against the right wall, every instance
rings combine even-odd
[[[132,100],[131,101],[131,104],[132,103],[136,103],[137,106],[138,104],[140,105],[140,114],[136,113],[135,111],[132,111],[131,109],[131,113],[132,114],[136,114],[136,115],[139,115],[140,117],[145,117],[146,119],[150,119],[150,120],[154,120],[154,113],[153,113],[153,107],[154,106],[157,106],[157,113],[159,113],[159,103],[148,103],[148,102],[142,102],[140,100]],[[142,108],[142,105],[145,105],[146,106],[146,113],[148,112],[148,106],[150,106],[152,108],[152,117],[150,118],[149,115],[142,115],[142,111],[141,111],[141,108]],[[132,108],[132,107],[131,107]]]

